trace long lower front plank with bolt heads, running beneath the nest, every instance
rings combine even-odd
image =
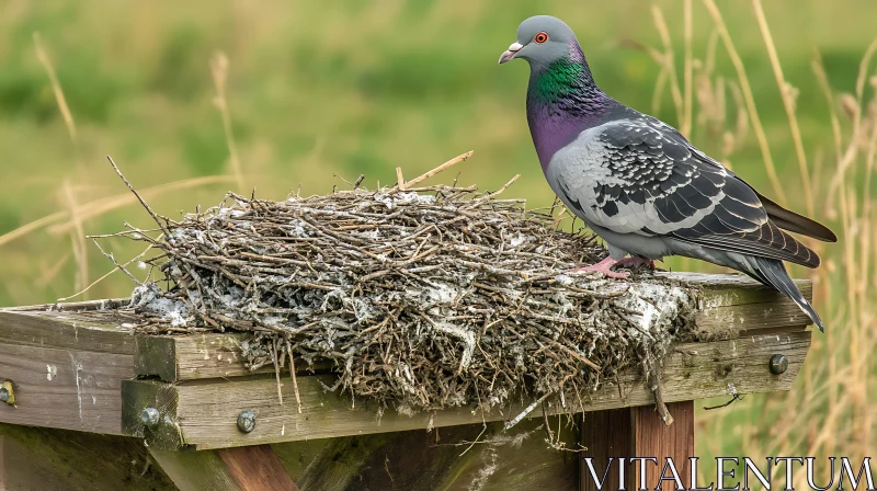
[[[788,390],[804,364],[809,345],[809,331],[676,345],[662,368],[664,400],[674,402],[733,392]],[[776,353],[785,354],[789,361],[788,369],[782,375],[772,375],[768,370],[768,359]],[[282,384],[284,404],[277,401],[277,386],[271,376],[176,385],[128,380],[123,382],[123,421],[132,422],[126,430],[138,436],[146,435],[151,445],[174,447],[183,443],[203,449],[442,427],[477,423],[482,418],[487,421],[508,420],[519,414],[524,406],[513,404],[503,411],[486,414],[458,408],[411,418],[390,410],[378,416],[376,408],[369,407],[368,401],[357,400],[354,406],[345,398],[327,393],[323,384],[331,382],[331,376],[298,377],[303,402],[303,411],[298,413],[288,378]],[[549,407],[548,411],[581,412],[652,403],[653,396],[638,372],[623,374],[619,384],[620,388],[607,384],[591,393],[571,393],[566,398],[570,408]],[[156,397],[155,385],[162,386],[160,398]],[[143,396],[145,392],[150,395]],[[141,426],[138,429],[137,414],[145,403],[158,401],[168,404],[173,400],[176,400],[175,407],[162,409],[168,418],[162,414],[158,429],[149,432],[143,432]],[[248,434],[236,426],[238,414],[246,410],[258,414],[255,430]],[[536,409],[532,415],[542,415],[542,409]],[[161,435],[172,437],[164,439]]]

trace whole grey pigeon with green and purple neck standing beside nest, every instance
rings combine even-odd
[[[522,22],[499,62],[516,58],[529,62],[526,114],[545,178],[608,249],[605,260],[576,272],[624,278],[628,273],[612,269],[694,258],[779,290],[823,331],[783,262],[819,266],[788,232],[835,242],[830,229],[768,199],[669,124],[603,92],[561,20]]]

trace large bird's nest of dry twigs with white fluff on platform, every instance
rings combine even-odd
[[[160,251],[146,264],[167,288],[137,279],[132,297],[141,329],[247,332],[253,369],[328,362],[330,389],[411,413],[586,401],[688,328],[688,295],[667,279],[570,274],[605,252],[558,229],[559,207],[415,182],[281,202],[228,193],[180,221],[144,203],[160,236],[117,235]]]

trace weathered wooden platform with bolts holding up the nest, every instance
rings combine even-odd
[[[254,374],[243,368],[240,335],[135,335],[136,319],[114,311],[113,301],[103,310],[95,302],[0,310],[0,380],[12,382],[15,400],[14,407],[0,404],[0,422],[39,426],[43,435],[60,429],[141,438],[150,454],[144,460],[158,464],[163,473],[156,479],[172,482],[169,489],[466,489],[476,479],[485,479],[481,489],[525,489],[510,488],[509,476],[528,487],[577,489],[581,454],[547,449],[546,422],[556,438],[583,439],[591,450],[585,455],[595,457],[610,452],[606,442],[593,441],[595,435],[614,425],[627,437],[604,435],[613,452],[645,455],[643,445],[654,449],[656,434],[663,435],[658,441],[679,441],[673,452],[693,452],[690,401],[788,390],[805,362],[809,319],[788,299],[740,276],[672,276],[691,285],[699,300],[696,339],[674,345],[662,368],[663,397],[676,420],[670,429],[652,424],[653,395],[638,370],[596,391],[567,395],[566,408],[539,404],[508,432],[502,422],[528,403],[485,414],[470,409],[411,418],[378,414],[366,400],[326,392],[331,375],[297,375],[299,412],[288,374],[281,380],[280,403],[273,368]],[[808,282],[798,286],[810,297]],[[774,355],[788,362],[782,373],[770,369]],[[144,424],[147,409],[157,411],[155,424]],[[244,411],[255,414],[249,433],[237,424]],[[554,415],[561,413],[585,415],[567,425],[566,416]],[[2,427],[3,442],[31,445],[21,430]],[[476,444],[460,457],[466,447],[455,444],[479,434],[481,442],[492,443]],[[520,448],[506,448],[515,437],[528,447],[526,459],[515,457]],[[134,442],[113,442],[128,441]],[[207,452],[213,449],[220,450]],[[13,461],[2,446],[0,460],[7,468]],[[479,473],[491,461],[493,472]],[[248,481],[253,476],[261,477]],[[354,477],[373,484],[358,488]],[[392,487],[381,487],[388,480]],[[586,482],[582,479],[582,489]]]

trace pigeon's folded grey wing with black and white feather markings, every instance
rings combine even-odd
[[[550,167],[555,191],[600,227],[819,265],[771,221],[751,186],[650,116],[583,132]]]

